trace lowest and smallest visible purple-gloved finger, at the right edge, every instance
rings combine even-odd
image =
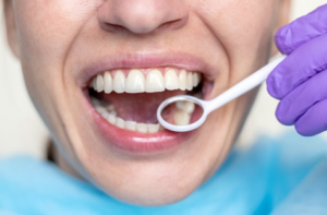
[[[322,100],[311,107],[295,123],[298,133],[312,136],[327,129],[327,100]]]

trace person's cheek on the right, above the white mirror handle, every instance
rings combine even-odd
[[[220,0],[197,4],[203,21],[221,44],[226,68],[217,74],[210,98],[263,67],[269,58],[275,0]]]

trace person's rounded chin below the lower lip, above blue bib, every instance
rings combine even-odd
[[[207,171],[205,167],[196,171],[193,165],[162,159],[142,164],[131,160],[119,167],[105,163],[107,168],[94,168],[87,162],[86,168],[93,169],[88,172],[97,187],[113,199],[143,206],[168,205],[187,198],[204,182]],[[99,160],[94,165],[101,166]]]

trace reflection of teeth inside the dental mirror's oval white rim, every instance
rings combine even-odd
[[[162,119],[173,126],[189,126],[197,121],[202,115],[202,107],[190,100],[171,103],[161,111]]]

